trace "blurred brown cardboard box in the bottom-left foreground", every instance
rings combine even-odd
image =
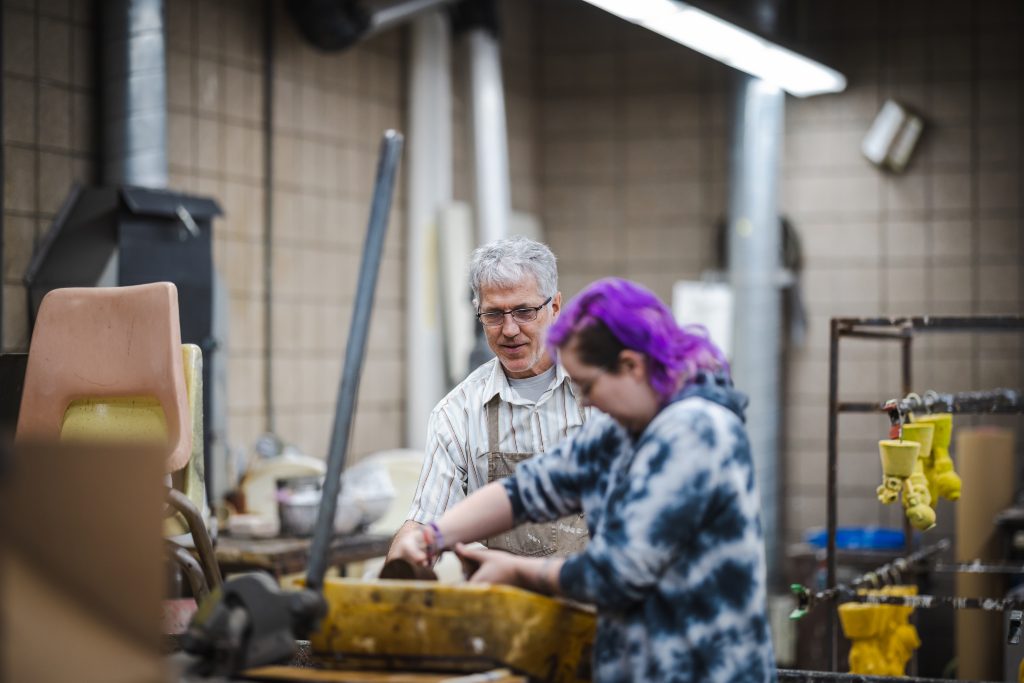
[[[0,476],[0,680],[165,680],[163,459],[17,449]]]

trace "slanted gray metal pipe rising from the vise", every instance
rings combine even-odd
[[[367,228],[367,242],[362,247],[362,263],[359,266],[359,280],[355,289],[352,322],[348,327],[348,343],[345,345],[345,368],[341,374],[341,383],[338,385],[337,413],[334,416],[331,447],[328,451],[327,478],[324,481],[324,494],[316,515],[312,549],[309,551],[306,588],[316,592],[323,588],[324,574],[327,573],[328,551],[331,547],[331,537],[334,536],[334,513],[338,507],[341,473],[345,469],[352,418],[355,416],[359,376],[362,374],[367,337],[370,336],[370,314],[373,312],[377,273],[380,271],[384,253],[384,237],[387,233],[388,213],[391,210],[395,176],[398,174],[401,145],[400,133],[393,130],[384,133],[380,160],[377,164],[373,203],[370,206],[370,225]]]

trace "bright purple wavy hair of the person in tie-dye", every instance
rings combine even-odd
[[[647,356],[650,386],[664,400],[698,371],[729,373],[725,356],[702,326],[680,327],[653,292],[629,280],[605,278],[588,285],[565,304],[548,331],[548,344],[554,351],[581,333],[590,336],[594,328],[606,328],[623,347]],[[617,365],[617,352],[614,358]]]

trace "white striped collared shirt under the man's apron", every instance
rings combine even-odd
[[[569,376],[555,366],[555,379],[536,403],[509,384],[498,358],[483,364],[437,403],[427,425],[427,454],[409,519],[426,524],[487,483],[487,412],[495,394],[498,450],[543,453],[574,434],[592,409],[582,408]]]

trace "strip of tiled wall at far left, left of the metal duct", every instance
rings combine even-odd
[[[3,2],[3,339],[29,344],[22,279],[73,181],[95,180],[92,3]]]

